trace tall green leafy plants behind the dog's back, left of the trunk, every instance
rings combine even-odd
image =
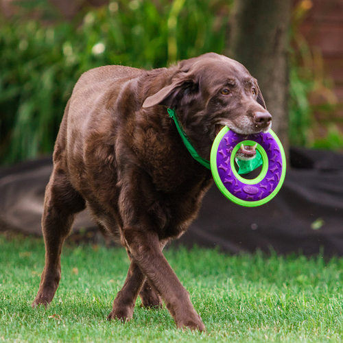
[[[111,1],[54,25],[1,18],[0,161],[51,152],[73,84],[88,69],[165,67],[223,51],[228,1],[177,2]],[[51,8],[43,10],[51,20]]]

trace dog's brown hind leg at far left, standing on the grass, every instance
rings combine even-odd
[[[32,307],[39,304],[47,306],[54,298],[61,276],[62,245],[71,230],[75,213],[84,208],[85,202],[80,193],[73,189],[66,174],[55,168],[45,191],[42,217],[45,267]]]

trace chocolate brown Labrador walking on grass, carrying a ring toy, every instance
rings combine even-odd
[[[145,307],[163,300],[178,327],[204,330],[162,250],[196,217],[211,171],[189,154],[167,108],[206,159],[223,126],[254,134],[271,125],[257,80],[225,56],[204,54],[151,71],[107,66],[84,73],[56,139],[42,219],[45,267],[33,306],[54,298],[62,244],[75,213],[88,206],[130,258],[108,318],[130,320],[141,296]]]

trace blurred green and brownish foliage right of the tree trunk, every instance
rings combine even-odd
[[[289,51],[289,141],[292,145],[343,149],[343,135],[327,118],[336,108],[331,80],[323,71],[322,55],[310,49],[300,31],[311,1],[299,1],[294,6]],[[324,105],[311,104],[310,98],[321,98]],[[324,119],[319,122],[316,115]],[[327,136],[318,139],[316,131],[327,126]]]

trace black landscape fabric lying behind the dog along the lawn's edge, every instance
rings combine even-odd
[[[220,248],[229,253],[274,250],[343,255],[343,155],[292,148],[285,183],[268,204],[245,208],[213,186],[198,219],[178,244]],[[0,169],[0,230],[41,235],[45,186],[51,158]],[[87,211],[74,232],[94,230]]]

